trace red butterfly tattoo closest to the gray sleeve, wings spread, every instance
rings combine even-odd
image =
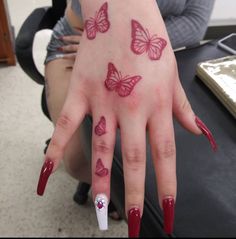
[[[159,60],[163,49],[167,45],[166,40],[157,37],[156,34],[151,36],[149,31],[144,29],[142,25],[135,20],[131,20],[131,27],[131,50],[137,55],[146,52],[151,60]]]

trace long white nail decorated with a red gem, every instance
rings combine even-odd
[[[101,231],[108,229],[108,198],[105,194],[97,194],[95,201],[98,226]]]

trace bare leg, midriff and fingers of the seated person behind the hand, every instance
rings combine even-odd
[[[81,19],[67,6],[65,15],[73,27],[83,27]],[[79,48],[80,36],[63,36],[65,42],[73,42],[73,45],[64,46],[66,52],[64,59],[50,61],[45,66],[47,105],[54,126],[59,118],[71,80],[72,67],[74,65],[75,52]],[[71,54],[70,54],[71,53]],[[78,127],[75,134],[68,141],[62,157],[67,172],[75,179],[91,183],[91,164],[86,160],[83,150],[83,130]]]

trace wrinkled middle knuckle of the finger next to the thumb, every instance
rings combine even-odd
[[[176,148],[175,143],[172,140],[159,144],[156,152],[156,156],[159,159],[168,159],[175,157]]]

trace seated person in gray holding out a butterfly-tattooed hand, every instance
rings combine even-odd
[[[216,149],[210,130],[187,100],[173,49],[203,39],[213,5],[214,0],[68,1],[45,59],[47,105],[55,130],[39,177],[39,195],[63,159],[72,177],[92,185],[99,228],[106,230],[119,128],[129,236],[137,237],[147,129],[164,230],[172,233],[177,193],[172,114],[190,132],[204,133]],[[93,117],[92,159],[83,145],[87,114]]]

